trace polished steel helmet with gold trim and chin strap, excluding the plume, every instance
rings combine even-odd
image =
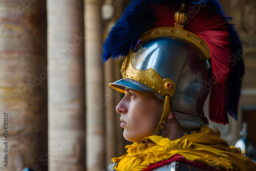
[[[188,31],[169,27],[150,30],[140,40],[123,61],[123,79],[110,86],[122,93],[125,87],[152,91],[165,101],[155,135],[161,135],[171,111],[187,131],[208,126],[203,104],[209,91],[200,94],[204,80],[209,79],[209,68],[204,64],[209,50],[203,40]]]

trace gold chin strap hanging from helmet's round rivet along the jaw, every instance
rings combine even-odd
[[[159,136],[162,135],[162,132],[163,132],[164,127],[167,123],[169,114],[170,114],[170,96],[166,95],[165,96],[165,101],[164,101],[163,114],[162,114],[162,117],[161,117],[153,135],[159,135]]]

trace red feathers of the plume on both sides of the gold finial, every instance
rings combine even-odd
[[[174,16],[175,12],[179,10],[179,7],[181,7],[181,4],[177,4],[176,6],[174,3],[155,7],[157,20],[154,23],[154,27],[174,27],[174,17],[170,16]],[[186,5],[186,11],[188,21],[184,29],[202,38],[208,45],[211,53],[212,77],[208,80],[208,83],[212,86],[209,100],[209,118],[211,121],[226,124],[228,123],[227,111],[237,119],[237,104],[241,92],[241,78],[244,74],[243,61],[240,63],[241,73],[237,76],[240,80],[240,82],[236,82],[237,96],[228,92],[227,81],[235,82],[238,80],[238,78],[233,78],[234,76],[230,78],[230,74],[233,71],[230,60],[233,59],[231,56],[232,53],[238,50],[235,47],[241,48],[241,42],[237,33],[227,23],[227,18],[223,16],[221,7],[217,1],[209,1],[205,7],[188,3]],[[234,40],[235,38],[237,40]],[[233,45],[234,41],[236,43]],[[234,104],[230,104],[232,100]]]

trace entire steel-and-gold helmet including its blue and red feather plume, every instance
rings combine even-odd
[[[208,126],[203,105],[210,91],[210,119],[226,124],[227,112],[237,118],[244,66],[242,60],[237,66],[229,61],[234,59],[232,48],[241,46],[238,37],[230,36],[237,34],[220,12],[209,10],[216,7],[216,1],[205,1],[208,4],[204,6],[202,1],[188,1],[186,5],[179,2],[132,1],[103,45],[104,60],[127,55],[121,69],[123,79],[110,83],[112,88],[122,93],[125,87],[151,91],[165,100],[155,135],[161,135],[170,111],[175,112],[186,131]],[[186,13],[196,5],[200,7],[198,16],[187,22]],[[144,17],[141,13],[150,19],[140,20]],[[234,75],[236,68],[240,71]],[[229,81],[237,81],[237,86],[232,88],[237,96],[227,89]]]

